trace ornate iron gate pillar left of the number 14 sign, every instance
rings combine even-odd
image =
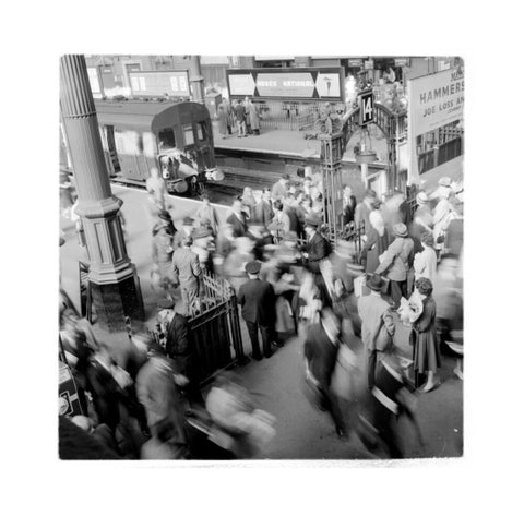
[[[336,243],[343,230],[343,192],[341,160],[344,154],[344,134],[321,134],[322,183],[324,187],[324,223],[330,239]]]

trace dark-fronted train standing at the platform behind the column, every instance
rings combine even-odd
[[[207,182],[221,181],[207,108],[199,103],[168,99],[95,100],[102,145],[109,176],[142,183],[157,168],[167,190],[195,195]],[[66,145],[62,131],[61,144]],[[67,149],[61,164],[71,168]]]

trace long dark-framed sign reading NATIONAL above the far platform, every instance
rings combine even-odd
[[[230,98],[344,101],[342,67],[227,70]]]

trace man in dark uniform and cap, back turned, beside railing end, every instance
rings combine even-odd
[[[259,327],[266,358],[271,357],[271,343],[275,332],[275,291],[270,283],[260,279],[260,267],[261,263],[258,261],[246,264],[249,279],[238,291],[238,303],[242,307],[242,319],[248,327],[254,360],[262,359]]]

